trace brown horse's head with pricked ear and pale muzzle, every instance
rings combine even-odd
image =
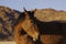
[[[24,9],[25,20],[22,23],[22,28],[29,34],[31,37],[33,37],[33,41],[36,41],[38,38],[38,30],[36,24],[34,24],[34,21],[31,19],[30,15],[32,15],[32,12],[26,11]]]

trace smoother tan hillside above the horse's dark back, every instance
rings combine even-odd
[[[35,16],[40,21],[66,21],[66,11],[58,11],[54,9],[38,9],[35,11]]]

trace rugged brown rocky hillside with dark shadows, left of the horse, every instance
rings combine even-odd
[[[12,40],[13,26],[21,12],[7,7],[0,7],[0,40]]]

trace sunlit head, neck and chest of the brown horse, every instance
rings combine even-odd
[[[36,41],[38,38],[37,26],[31,20],[28,11],[24,9],[23,14],[24,20],[19,21],[19,23],[14,26],[14,38],[16,44],[33,44],[32,41]],[[24,31],[26,34],[21,34],[20,31]],[[31,41],[30,37],[33,40]],[[30,42],[29,42],[30,41]]]

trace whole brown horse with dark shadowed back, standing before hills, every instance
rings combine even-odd
[[[30,16],[32,14],[30,14],[29,11],[26,11],[25,9],[23,14],[25,15],[24,20],[19,20],[19,23],[14,26],[14,37],[16,44],[34,44],[33,41],[36,41],[38,35],[38,43],[36,42],[35,44],[62,44],[59,42],[63,41],[62,26],[64,23],[55,21],[41,22],[35,18],[33,18],[33,20],[31,19],[32,16]],[[24,30],[25,34],[21,34],[22,32],[20,33],[22,29]],[[33,40],[31,40],[29,36],[33,37]]]

